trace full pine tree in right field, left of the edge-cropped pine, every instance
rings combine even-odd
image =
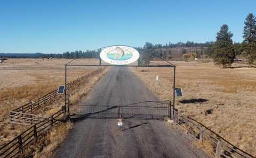
[[[235,59],[231,37],[233,37],[233,33],[228,31],[228,25],[222,25],[213,46],[214,62],[222,64],[222,68],[226,68],[227,65],[230,66]]]

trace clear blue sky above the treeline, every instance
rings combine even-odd
[[[228,24],[241,42],[255,0],[5,1],[0,0],[0,52],[97,49],[145,42],[215,40]]]

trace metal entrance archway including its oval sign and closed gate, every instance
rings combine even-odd
[[[110,66],[110,67],[165,67],[173,68],[173,103],[171,102],[159,102],[151,100],[141,100],[139,102],[132,101],[130,102],[115,102],[115,104],[109,104],[108,102],[95,103],[81,103],[76,105],[68,104],[67,101],[67,90],[65,91],[65,103],[68,106],[69,116],[72,118],[83,117],[83,118],[118,118],[119,115],[122,115],[125,119],[161,119],[163,120],[166,117],[171,118],[173,115],[174,104],[175,104],[175,65],[171,64],[167,60],[164,60],[167,65],[140,65],[139,61],[139,52],[136,48],[125,45],[115,45],[108,46],[96,49],[94,51],[101,51],[99,57],[99,64],[88,64],[88,65],[75,65],[71,64],[74,60],[65,65],[65,85],[67,84],[67,67],[68,66]],[[109,56],[107,56],[109,55]],[[116,56],[115,56],[116,55]],[[129,57],[130,55],[130,57]],[[121,58],[121,59],[120,59]],[[122,60],[124,58],[124,60]],[[161,58],[162,59],[162,58]],[[102,64],[102,60],[105,61],[105,64]],[[137,62],[136,65],[131,64]],[[121,64],[120,64],[121,63]],[[127,65],[128,64],[128,65]],[[124,71],[125,68],[122,68]],[[119,74],[117,76],[120,76]],[[128,76],[128,75],[127,75]],[[129,74],[129,76],[132,76]],[[122,84],[129,84],[125,81],[126,78],[119,77],[119,80],[114,84],[118,85],[118,81],[123,81]],[[136,78],[135,76],[133,76]],[[112,78],[115,80],[115,78]],[[143,83],[141,83],[143,84]],[[67,86],[65,86],[67,87]],[[126,91],[122,89],[124,86],[120,86],[121,91]],[[129,87],[128,87],[129,88]],[[104,90],[104,89],[103,89]],[[106,91],[106,90],[105,90]],[[105,94],[107,95],[107,91]],[[111,92],[109,92],[111,93]],[[128,94],[126,94],[128,95]],[[115,97],[115,96],[112,96]]]

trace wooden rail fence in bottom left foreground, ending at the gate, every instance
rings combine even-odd
[[[31,152],[29,151],[31,150],[29,144],[36,143],[38,137],[43,135],[56,122],[60,121],[64,113],[65,107],[23,131],[19,136],[0,148],[0,157],[25,157],[26,154]]]

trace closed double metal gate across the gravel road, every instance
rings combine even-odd
[[[71,105],[70,117],[83,118],[119,118],[163,120],[171,116],[171,104],[166,102],[146,101],[123,106]]]

